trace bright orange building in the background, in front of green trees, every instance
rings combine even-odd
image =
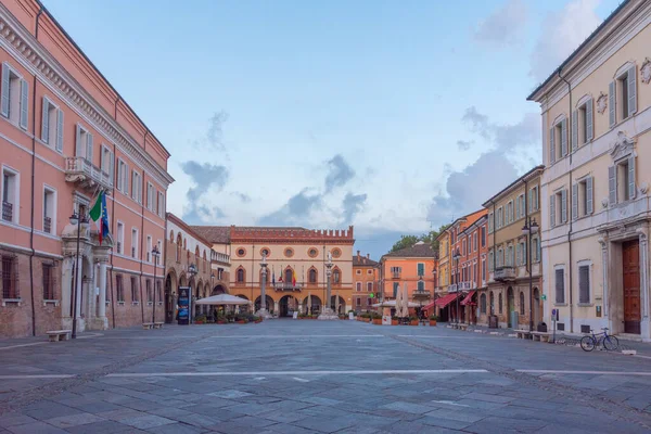
[[[432,298],[437,264],[430,244],[419,241],[411,247],[387,253],[380,261],[384,299],[395,298],[405,284],[409,301],[427,304]]]

